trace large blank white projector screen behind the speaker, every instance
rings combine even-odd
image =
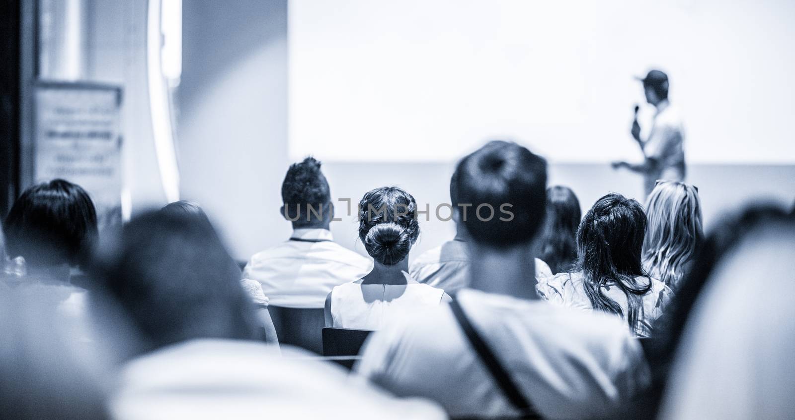
[[[289,0],[289,153],[449,161],[504,138],[637,158],[634,76],[656,67],[689,161],[790,164],[793,18],[774,0]]]

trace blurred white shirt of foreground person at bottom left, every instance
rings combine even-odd
[[[424,400],[394,399],[348,380],[311,353],[253,341],[193,340],[131,360],[111,399],[118,420],[444,418]]]

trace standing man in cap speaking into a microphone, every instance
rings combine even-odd
[[[615,162],[613,168],[628,168],[642,174],[648,195],[657,179],[684,180],[684,129],[679,113],[668,101],[668,75],[652,70],[640,80],[646,92],[646,102],[657,108],[649,136],[642,139],[638,107],[635,107],[631,133],[635,141],[638,141],[645,159],[642,164]]]

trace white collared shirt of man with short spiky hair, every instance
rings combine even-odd
[[[254,254],[242,276],[262,284],[270,305],[322,308],[333,287],[372,268],[372,260],[334,242],[327,229],[295,229],[291,240]]]

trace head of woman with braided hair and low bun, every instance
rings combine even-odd
[[[378,263],[405,260],[419,235],[417,202],[400,188],[376,188],[359,202],[359,239]]]

